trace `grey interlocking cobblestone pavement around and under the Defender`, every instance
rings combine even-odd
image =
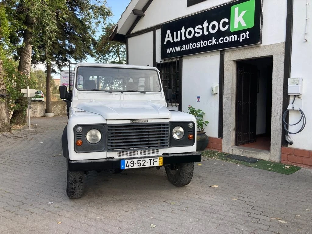
[[[66,120],[32,118],[35,130],[0,134],[1,234],[312,233],[309,169],[283,175],[209,159],[182,188],[164,168],[91,172],[84,197],[70,200]]]

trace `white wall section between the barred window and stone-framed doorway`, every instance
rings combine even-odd
[[[203,110],[209,121],[205,132],[211,137],[218,137],[219,94],[212,94],[211,87],[219,84],[219,64],[219,51],[183,57],[182,110],[188,112],[188,105]]]

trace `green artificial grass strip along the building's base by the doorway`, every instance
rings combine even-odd
[[[243,161],[228,158],[227,154],[220,153],[220,152],[213,151],[213,150],[207,150],[207,151],[202,152],[202,156],[222,160],[222,161],[229,162],[229,163],[235,163],[235,164],[244,165],[248,167],[259,168],[262,170],[281,173],[285,175],[290,175],[300,170],[300,167],[297,167],[297,166],[284,165],[282,163],[269,162],[269,161],[265,161],[261,159],[259,159],[258,162],[256,163],[243,162]]]

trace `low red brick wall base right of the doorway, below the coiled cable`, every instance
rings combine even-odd
[[[312,167],[312,151],[282,147],[281,163]]]

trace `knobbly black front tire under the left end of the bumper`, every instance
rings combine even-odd
[[[66,193],[69,198],[80,198],[83,195],[85,184],[84,171],[69,171],[67,169],[67,187]]]

